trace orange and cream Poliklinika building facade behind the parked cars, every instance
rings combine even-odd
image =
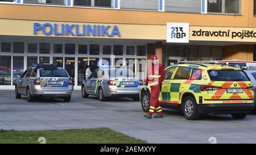
[[[32,63],[56,63],[80,89],[86,66],[128,65],[146,77],[156,55],[180,60],[256,59],[251,0],[0,0],[0,89]]]

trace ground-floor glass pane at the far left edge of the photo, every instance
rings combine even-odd
[[[0,56],[0,85],[11,85],[11,56]]]

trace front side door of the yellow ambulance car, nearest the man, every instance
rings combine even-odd
[[[162,83],[162,89],[160,90],[159,101],[170,102],[171,100],[171,78],[177,67],[171,67],[164,70],[165,77]]]

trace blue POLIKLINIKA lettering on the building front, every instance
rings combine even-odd
[[[34,23],[34,35],[40,32],[56,36],[121,36],[118,26]]]

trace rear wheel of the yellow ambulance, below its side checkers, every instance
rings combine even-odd
[[[196,101],[193,97],[186,97],[182,103],[183,114],[188,120],[197,120],[200,118],[197,110]]]

